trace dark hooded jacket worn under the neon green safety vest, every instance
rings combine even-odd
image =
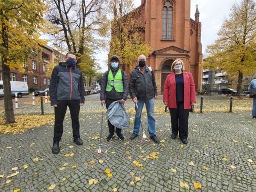
[[[112,56],[110,58],[110,61],[113,59],[116,59],[118,61],[118,63],[120,63],[119,58],[116,55]],[[120,64],[118,65],[118,67],[116,69],[113,69],[113,68],[111,68],[111,65],[110,65],[110,70],[112,70],[113,77],[115,77],[115,75],[119,69],[119,66],[120,66]],[[127,75],[126,75],[125,71],[121,70],[121,72],[122,72],[122,77],[123,77],[124,92],[123,93],[116,92],[115,87],[113,87],[113,89],[110,92],[106,91],[107,82],[108,82],[108,73],[109,73],[109,70],[107,70],[103,75],[103,79],[102,79],[101,86],[100,86],[100,100],[101,101],[106,100],[106,98],[110,99],[110,100],[114,100],[114,101],[121,100],[121,99],[124,99],[124,100],[127,99],[128,92],[129,92],[128,79],[127,79]]]

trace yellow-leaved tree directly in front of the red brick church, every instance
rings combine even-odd
[[[111,42],[109,55],[118,55],[123,70],[137,62],[138,55],[148,55],[150,47],[143,42],[142,32],[138,18],[139,9],[134,9],[132,0],[111,0],[113,7],[113,22],[111,25]]]

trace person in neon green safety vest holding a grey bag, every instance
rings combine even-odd
[[[119,69],[120,61],[116,55],[110,58],[110,70],[107,70],[102,79],[100,87],[100,100],[101,105],[106,103],[106,108],[114,101],[119,100],[120,103],[124,103],[128,96],[129,86],[128,79],[125,71]],[[115,126],[108,121],[109,135],[107,140],[111,141]],[[116,128],[116,135],[119,140],[124,140],[124,136],[121,133],[121,129]]]

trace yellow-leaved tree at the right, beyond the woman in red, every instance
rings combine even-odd
[[[218,32],[219,38],[207,46],[211,57],[202,66],[226,70],[228,75],[238,76],[237,93],[241,95],[243,75],[256,71],[256,11],[253,0],[234,4],[228,19]]]

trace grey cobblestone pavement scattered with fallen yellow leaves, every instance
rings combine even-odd
[[[123,131],[125,141],[115,138],[107,142],[105,121],[103,156],[96,157],[101,121],[98,98],[87,96],[81,109],[83,146],[73,142],[69,113],[58,155],[51,153],[53,125],[22,134],[0,134],[0,191],[50,191],[53,184],[56,187],[52,191],[195,191],[194,182],[202,184],[201,191],[256,191],[256,120],[251,118],[250,110],[190,113],[188,145],[183,147],[179,139],[171,139],[168,113],[155,114],[157,136],[162,140],[158,145],[151,140],[140,142],[141,133],[130,140],[132,125]],[[156,107],[161,105],[160,99]],[[53,113],[50,105],[46,106],[46,113]],[[126,106],[134,116],[132,101],[127,101]],[[24,104],[15,113],[33,113],[30,108]],[[142,122],[146,127],[145,115]],[[191,161],[194,166],[188,165]],[[113,174],[110,178],[105,173],[107,168]],[[98,182],[89,185],[91,179]],[[181,188],[180,181],[189,189]]]

